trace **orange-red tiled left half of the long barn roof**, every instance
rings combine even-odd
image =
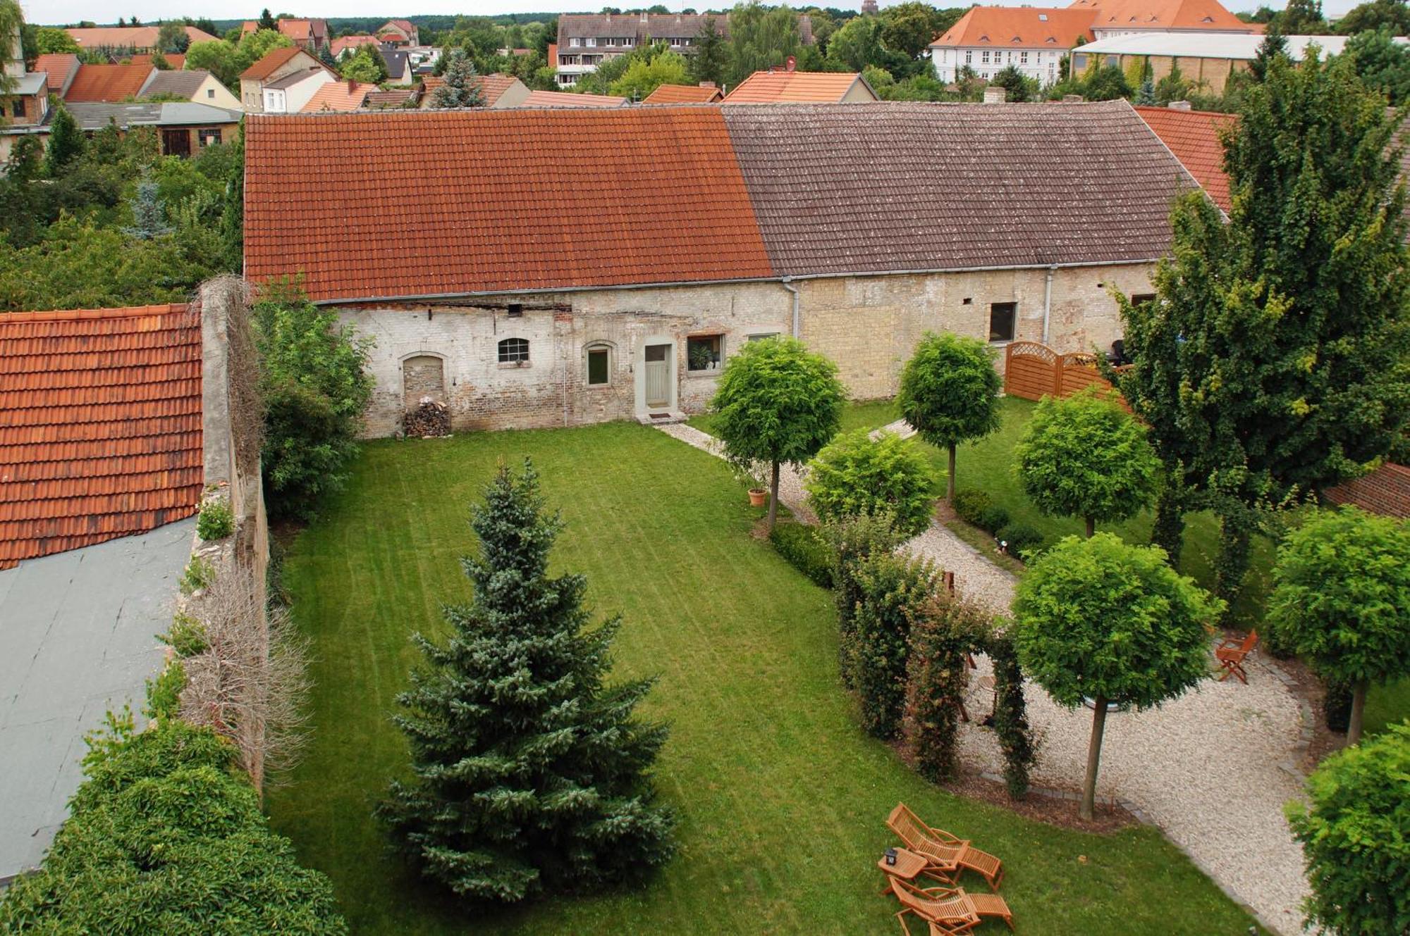
[[[773,275],[716,107],[245,120],[245,275],[314,299]]]

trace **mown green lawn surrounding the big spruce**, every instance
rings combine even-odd
[[[369,816],[405,768],[388,722],[443,601],[467,596],[467,507],[498,458],[532,455],[568,523],[557,562],[622,612],[623,675],[660,674],[660,770],[680,854],[647,889],[515,912],[457,908],[409,880]],[[313,641],[313,739],[275,826],[327,871],[357,933],[890,933],[874,863],[897,801],[1001,856],[1029,936],[1242,933],[1249,919],[1153,829],[1036,825],[943,794],[856,727],[830,598],[767,541],[723,462],[636,424],[364,447],[348,489],[289,550]],[[969,884],[973,885],[973,881]],[[990,923],[986,933],[1007,932]]]

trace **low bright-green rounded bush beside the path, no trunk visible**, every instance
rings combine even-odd
[[[864,429],[833,438],[808,467],[808,498],[823,520],[857,513],[891,515],[897,531],[914,536],[931,523],[935,476],[925,455],[900,436]]]

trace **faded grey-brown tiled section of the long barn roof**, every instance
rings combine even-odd
[[[1124,100],[721,110],[790,275],[1155,259],[1193,187]]]

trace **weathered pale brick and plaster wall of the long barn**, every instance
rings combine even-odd
[[[1149,292],[1152,269],[1052,271],[1046,344],[1060,352],[1108,348],[1121,335],[1108,285]],[[1048,269],[1010,269],[799,279],[794,286],[804,343],[838,362],[854,398],[870,399],[895,393],[901,367],[926,331],[987,340],[993,303],[1015,304],[1015,338],[1042,341],[1048,278]],[[701,412],[718,371],[687,367],[689,340],[723,335],[728,358],[752,335],[790,334],[792,295],[778,282],[760,282],[368,303],[340,314],[375,341],[376,389],[365,431],[391,436],[422,396],[450,406],[455,431],[633,419],[643,412],[643,350],[656,344],[671,347],[674,372],[670,403],[657,409]],[[501,343],[513,340],[527,341],[527,361],[501,361]],[[608,354],[603,385],[588,383],[594,350]]]

